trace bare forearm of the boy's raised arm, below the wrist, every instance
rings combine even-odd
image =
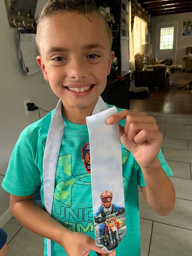
[[[146,184],[148,205],[159,215],[169,214],[175,206],[175,189],[158,158],[153,166],[141,170]]]

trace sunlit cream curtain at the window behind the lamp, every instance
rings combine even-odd
[[[131,10],[131,2],[129,2]],[[132,13],[129,12],[129,28],[132,25]],[[140,52],[140,45],[146,44],[147,34],[147,22],[139,18],[134,17],[133,29],[129,29],[129,52],[130,52],[130,69],[135,70],[135,54]]]

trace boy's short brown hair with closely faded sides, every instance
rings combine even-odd
[[[36,33],[36,45],[39,50],[39,44],[41,41],[41,34],[44,27],[44,22],[51,19],[53,16],[56,16],[57,13],[62,12],[77,12],[79,14],[83,13],[90,21],[89,14],[94,12],[97,14],[98,18],[103,21],[103,24],[106,28],[107,36],[110,40],[110,51],[112,47],[112,31],[108,25],[108,21],[97,9],[96,3],[94,0],[49,0],[41,11],[38,24],[37,24],[37,33]],[[40,52],[40,51],[39,51]]]

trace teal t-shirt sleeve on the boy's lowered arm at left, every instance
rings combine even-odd
[[[17,140],[2,182],[2,188],[15,196],[33,194],[40,183],[37,167],[38,132],[27,126]]]

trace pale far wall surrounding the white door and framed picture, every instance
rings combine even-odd
[[[184,20],[192,20],[192,12],[177,13],[171,15],[162,15],[151,17],[151,43],[153,44],[153,57],[156,55],[156,27],[158,23],[166,23],[178,21],[178,40],[177,40],[177,57],[176,64],[182,64],[185,66],[185,62],[182,60],[185,55],[185,49],[188,46],[192,46],[192,36],[182,36],[182,26]]]

